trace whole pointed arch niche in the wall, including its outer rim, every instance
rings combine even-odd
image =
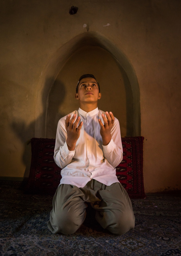
[[[108,39],[83,33],[62,46],[42,72],[38,90],[35,137],[55,138],[58,120],[78,109],[78,78],[93,74],[102,98],[98,108],[118,118],[121,136],[139,136],[140,92],[133,67]]]

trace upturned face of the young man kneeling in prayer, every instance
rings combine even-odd
[[[101,98],[96,80],[92,77],[83,78],[78,85],[76,99],[84,103],[97,102]]]

